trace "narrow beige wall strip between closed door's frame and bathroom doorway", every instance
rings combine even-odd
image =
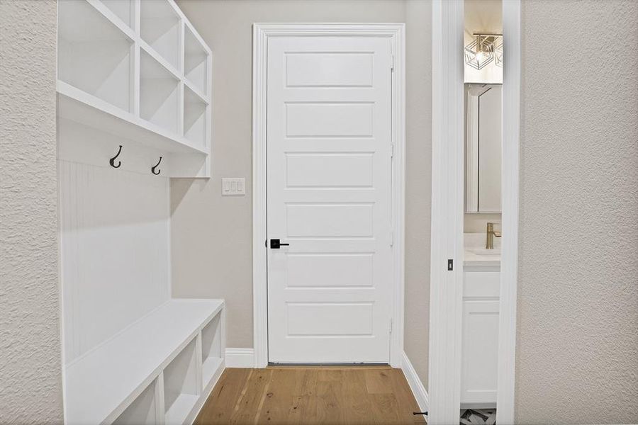
[[[405,3],[405,332],[403,347],[427,389],[432,211],[432,5]]]

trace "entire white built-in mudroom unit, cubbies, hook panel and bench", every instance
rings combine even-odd
[[[191,424],[225,305],[171,297],[161,178],[211,174],[211,50],[173,0],[57,5],[65,423]]]

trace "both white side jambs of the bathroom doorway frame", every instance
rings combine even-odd
[[[459,421],[464,193],[464,0],[432,0],[432,250],[428,424]],[[496,422],[514,422],[520,0],[503,1],[503,255]],[[454,270],[448,271],[448,259]]]

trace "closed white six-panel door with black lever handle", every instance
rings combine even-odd
[[[390,41],[267,48],[269,361],[388,363]]]

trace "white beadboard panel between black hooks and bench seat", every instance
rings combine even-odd
[[[58,161],[65,363],[170,297],[169,181]]]

